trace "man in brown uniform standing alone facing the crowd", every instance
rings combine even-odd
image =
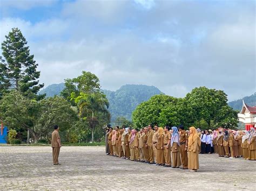
[[[62,145],[60,144],[60,137],[59,137],[59,126],[54,126],[54,131],[51,133],[51,147],[52,147],[52,158],[53,158],[53,165],[60,165],[58,158],[59,158],[59,150]]]

